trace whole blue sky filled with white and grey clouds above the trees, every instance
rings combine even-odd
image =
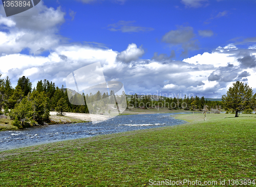
[[[0,73],[13,87],[23,75],[61,87],[100,62],[126,94],[220,98],[235,81],[256,91],[255,10],[255,0],[45,0],[6,17],[1,4]]]

